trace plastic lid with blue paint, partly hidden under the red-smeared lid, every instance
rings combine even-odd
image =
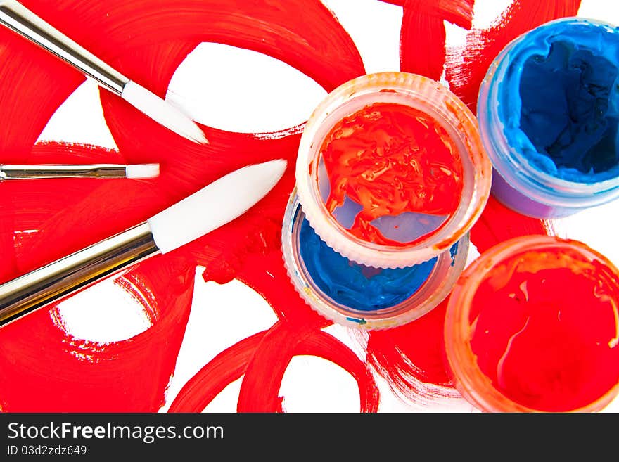
[[[304,226],[305,231],[303,230]],[[449,291],[464,269],[468,255],[468,233],[465,233],[456,244],[452,245],[452,248],[438,255],[435,258],[435,262],[425,262],[418,265],[417,268],[423,266],[423,271],[426,271],[426,273],[421,276],[421,279],[416,278],[417,282],[410,286],[410,293],[407,293],[407,288],[399,285],[400,279],[389,281],[389,277],[385,276],[386,274],[393,274],[394,271],[405,273],[407,269],[364,267],[345,259],[345,257],[337,254],[333,249],[328,248],[324,242],[322,242],[324,247],[321,252],[315,252],[312,249],[304,253],[302,243],[303,232],[314,233],[314,230],[307,223],[305,213],[295,191],[291,195],[291,199],[286,207],[281,235],[284,263],[295,289],[312,309],[326,317],[326,319],[344,326],[366,330],[400,326],[409,321],[414,321],[414,319],[429,312],[430,309],[433,309],[449,295]],[[319,240],[319,236],[316,236],[315,233],[311,237]],[[318,274],[318,271],[314,269],[313,262],[310,264],[306,260],[310,252],[309,257],[312,260],[318,259],[318,264],[329,265],[333,258],[343,259],[344,262],[340,262],[343,263],[344,269],[342,272],[350,271],[351,277],[361,278],[362,285],[359,285],[359,281],[357,281],[357,285],[351,285],[348,288],[339,290],[346,283],[347,276],[343,276],[336,283],[340,295],[328,294],[328,290],[324,290],[324,285],[321,285],[320,281],[317,280],[317,277],[323,276],[323,274]],[[361,276],[359,272],[355,272],[354,269],[347,268],[348,266],[360,269],[361,271],[359,272],[366,274],[367,278]],[[334,269],[334,271],[338,271],[338,269]],[[366,271],[369,271],[369,273]],[[371,307],[368,303],[371,295],[364,293],[364,290],[362,290],[363,288],[371,290],[371,280],[374,280],[374,283],[380,281],[381,284],[395,282],[399,285],[397,292],[403,295],[393,304],[388,302],[385,304],[381,299],[379,308]],[[359,289],[358,293],[354,293],[357,288],[361,289]],[[345,300],[350,300],[350,297],[346,299],[345,295],[341,295],[345,292],[349,293],[353,298],[357,297],[359,304],[352,302],[346,304]],[[361,304],[364,305],[364,309],[359,309]]]

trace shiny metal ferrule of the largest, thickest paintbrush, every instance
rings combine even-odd
[[[0,285],[0,327],[159,252],[144,222]]]

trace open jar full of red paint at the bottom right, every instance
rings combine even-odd
[[[487,412],[599,411],[619,393],[619,271],[587,245],[507,240],[449,297],[447,365]]]

